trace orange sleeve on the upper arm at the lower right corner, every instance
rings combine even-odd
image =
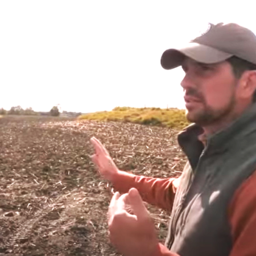
[[[256,171],[237,189],[229,207],[230,256],[256,255]]]

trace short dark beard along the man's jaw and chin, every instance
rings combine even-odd
[[[196,123],[199,126],[208,126],[223,120],[233,113],[234,106],[236,105],[236,100],[234,93],[230,97],[227,104],[221,109],[213,109],[204,100],[200,94],[197,95],[203,105],[203,108],[198,110],[187,110],[186,117],[189,122]]]

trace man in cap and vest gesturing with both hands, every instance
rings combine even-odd
[[[125,256],[256,255],[256,36],[237,24],[209,24],[162,67],[182,66],[187,119],[178,136],[188,158],[178,179],[119,171],[92,138],[93,161],[114,184],[109,234]],[[165,246],[143,201],[172,210]]]

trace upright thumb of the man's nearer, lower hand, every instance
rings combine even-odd
[[[131,188],[129,190],[128,197],[130,206],[137,218],[148,218],[149,214],[147,208],[145,207],[138,190],[136,188]]]

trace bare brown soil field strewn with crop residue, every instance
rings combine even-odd
[[[89,139],[100,139],[121,170],[173,177],[185,163],[176,135],[133,123],[1,118],[0,256],[120,255],[107,234],[111,184],[90,160]],[[169,215],[147,207],[164,241]]]

